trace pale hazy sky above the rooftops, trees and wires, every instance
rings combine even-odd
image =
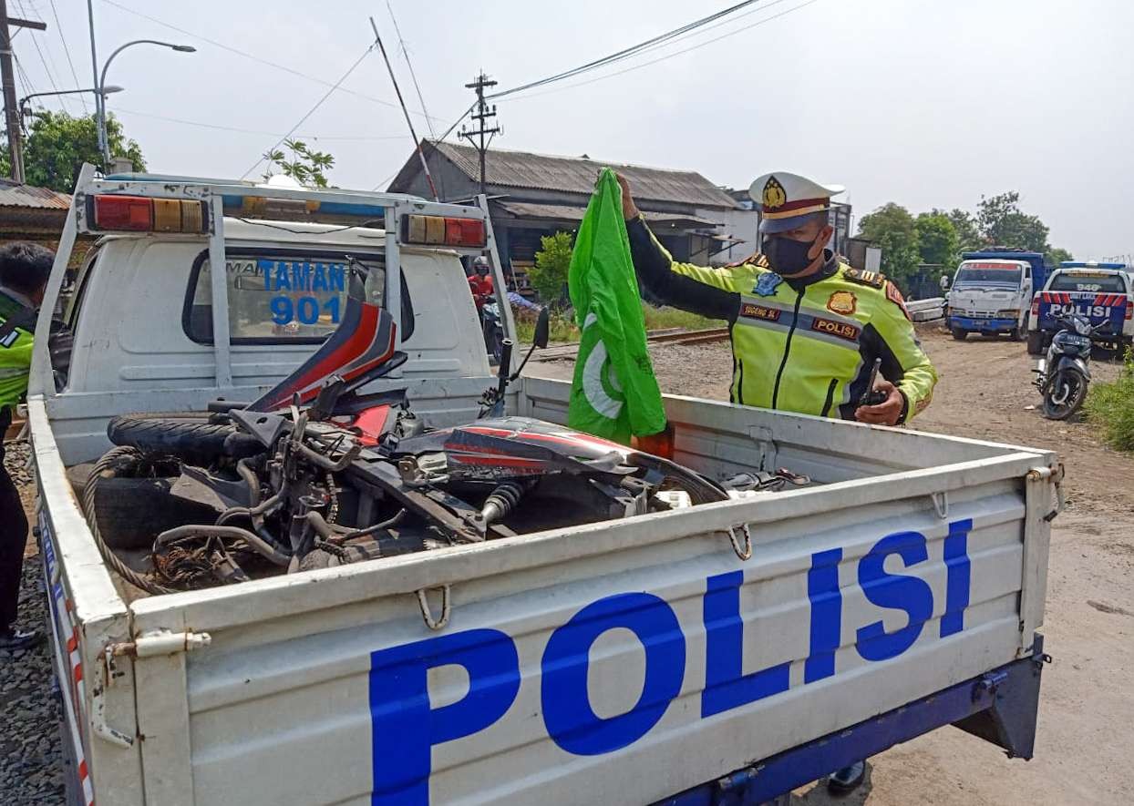
[[[373,42],[371,15],[417,135],[430,136],[467,109],[464,85],[481,69],[500,90],[519,86],[729,5],[389,0],[426,118],[387,0],[93,0],[100,68],[134,39],[197,48],[136,45],[108,71],[125,87],[108,108],[150,170],[253,178],[328,92],[319,82],[335,84]],[[92,85],[83,0],[8,10],[49,26],[12,41],[18,95]],[[731,187],[795,171],[845,185],[856,219],[887,202],[974,210],[982,195],[1018,190],[1053,246],[1131,255],[1131,31],[1125,0],[763,0],[636,59],[500,99],[494,145],[696,170]],[[381,53],[341,86],[295,136],[335,155],[335,185],[384,188],[413,141]],[[83,111],[77,96],[41,101]]]

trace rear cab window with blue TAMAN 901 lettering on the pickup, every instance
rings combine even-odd
[[[386,305],[382,255],[355,255],[364,270],[366,299]],[[226,256],[228,328],[232,343],[318,343],[339,326],[350,286],[352,265],[341,253],[229,249]],[[212,343],[212,266],[197,256],[189,278],[183,326],[198,343]],[[401,283],[401,321],[413,332],[413,307]]]

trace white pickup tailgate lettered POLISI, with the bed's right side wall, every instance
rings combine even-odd
[[[135,601],[209,639],[134,660],[145,803],[651,803],[1030,651],[1053,456],[667,408],[678,461],[826,484]]]

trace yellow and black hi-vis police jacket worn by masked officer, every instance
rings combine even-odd
[[[735,404],[854,419],[874,359],[905,398],[905,422],[929,405],[937,372],[898,289],[828,254],[823,269],[788,282],[759,255],[722,269],[675,262],[637,218],[627,222],[646,291],[729,323]]]

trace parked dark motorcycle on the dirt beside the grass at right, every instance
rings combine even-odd
[[[1059,329],[1051,339],[1048,353],[1036,363],[1034,385],[1043,396],[1043,416],[1048,419],[1067,419],[1086,399],[1091,382],[1092,338],[1107,332],[1109,322],[1091,326],[1091,321],[1078,313],[1065,314],[1057,320]]]

